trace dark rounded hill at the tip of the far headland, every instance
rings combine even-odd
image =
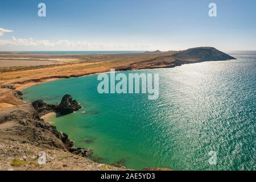
[[[180,51],[171,55],[172,58],[179,61],[223,61],[236,59],[228,54],[218,51],[213,47],[196,47],[185,51]]]

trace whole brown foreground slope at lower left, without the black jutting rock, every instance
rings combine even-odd
[[[55,127],[35,119],[31,104],[0,111],[0,170],[123,170],[68,151]],[[20,119],[22,118],[22,119]],[[64,142],[63,142],[64,141]],[[46,152],[46,165],[38,152]]]

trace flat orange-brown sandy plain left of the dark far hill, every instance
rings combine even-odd
[[[101,72],[109,72],[110,68],[125,70],[136,63],[142,63],[138,69],[148,67],[147,61],[171,56],[175,52],[92,54],[92,55],[38,55],[23,53],[0,53],[0,59],[14,60],[15,67],[2,67],[0,62],[0,86],[14,85],[15,90],[23,90],[42,82],[60,78],[79,77]],[[36,66],[19,66],[24,60],[36,60]],[[43,64],[42,63],[43,59]],[[45,61],[61,61],[61,63],[45,65]],[[170,59],[170,63],[174,61]],[[64,63],[65,62],[65,63]],[[157,62],[157,61],[156,61]],[[64,64],[63,64],[64,63]],[[163,64],[164,65],[164,64]],[[137,69],[134,65],[132,69]],[[5,109],[24,102],[14,96],[14,90],[0,88],[0,109]]]

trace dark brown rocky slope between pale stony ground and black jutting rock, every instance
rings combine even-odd
[[[10,107],[0,111],[0,124],[14,122],[15,127],[8,134],[33,143],[38,147],[69,150],[73,142],[67,135],[57,131],[55,126],[40,119],[38,111],[31,103]]]

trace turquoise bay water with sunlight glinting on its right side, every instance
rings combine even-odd
[[[97,75],[32,86],[24,99],[56,103],[71,94],[83,108],[51,122],[101,163],[255,170],[256,54],[232,56],[238,60],[135,71],[159,73],[158,100],[98,94]],[[208,162],[210,151],[217,153],[216,165]]]

